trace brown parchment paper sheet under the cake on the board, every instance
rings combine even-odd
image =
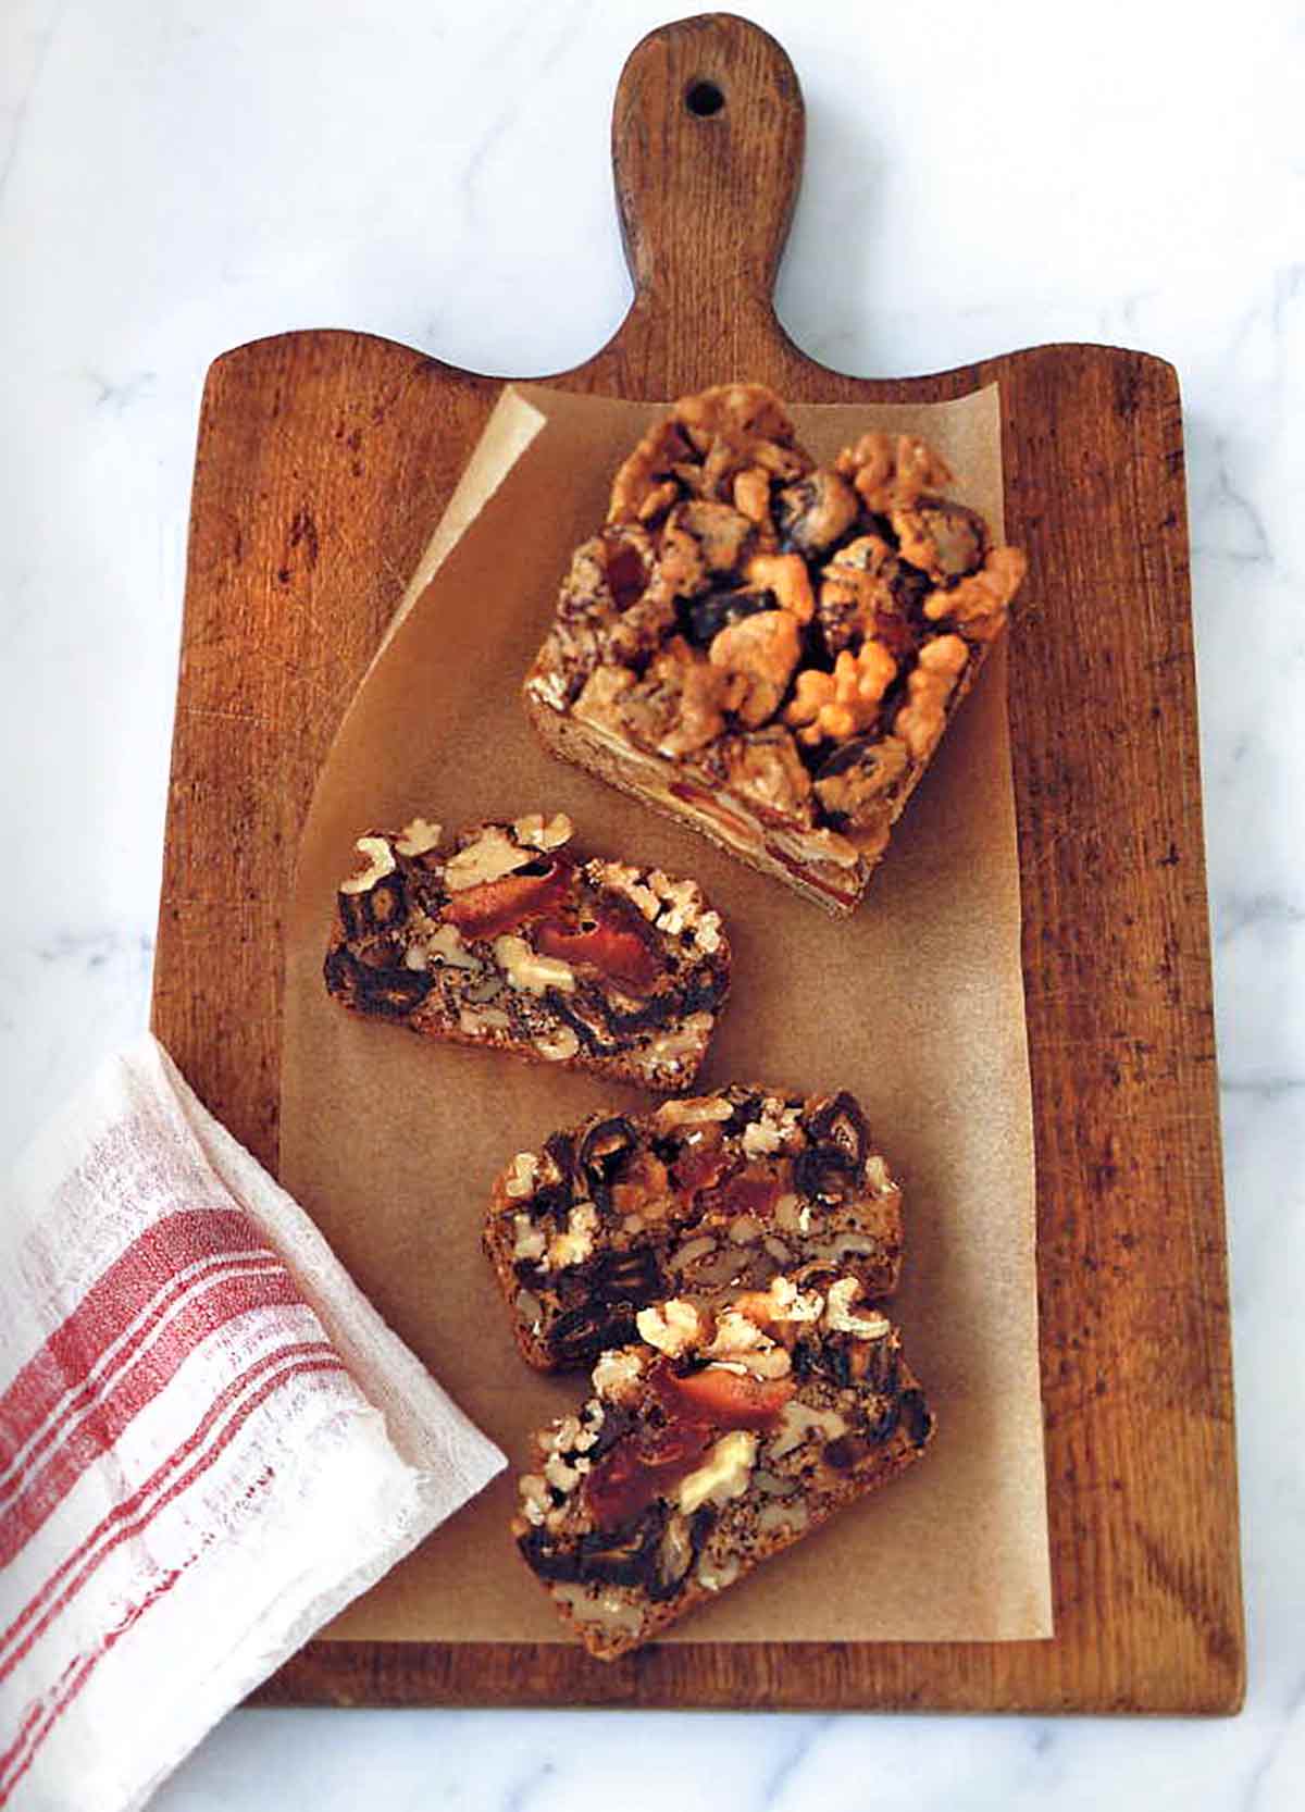
[[[1017,1640],[1051,1634],[1033,1267],[1033,1125],[1019,866],[999,647],[897,826],[865,904],[836,922],[778,882],[560,765],[520,680],[571,549],[656,410],[511,386],[359,689],[304,828],[286,931],[281,1180],[509,1470],[328,1636],[549,1642],[551,1605],[508,1518],[531,1428],[584,1375],[522,1364],[480,1223],[493,1174],[634,1089],[440,1046],[332,1002],[321,980],[353,839],[413,815],[567,812],[576,848],[696,875],[727,915],[734,988],[703,1085],[852,1089],[904,1185],[892,1305],[939,1433],[924,1460],[763,1566],[665,1640]],[[819,458],[866,428],[924,435],[955,495],[1000,524],[995,386],[933,406],[792,410]],[[1015,625],[1019,634],[1019,622]]]

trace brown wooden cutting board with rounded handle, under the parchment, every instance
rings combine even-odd
[[[1057,1634],[1030,1643],[304,1649],[263,1703],[1232,1712],[1245,1643],[1178,381],[1040,346],[863,381],[785,337],[772,286],[803,100],[727,14],[645,38],[613,165],[636,295],[549,382],[807,402],[1000,382],[1039,1305]],[[348,332],[256,341],[199,420],[154,1029],[276,1171],[281,920],[319,765],[498,382]],[[928,1566],[928,1555],[921,1555]]]

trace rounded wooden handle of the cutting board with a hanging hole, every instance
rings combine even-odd
[[[768,33],[703,13],[649,33],[613,109],[613,170],[634,313],[774,323],[774,277],[801,179],[798,74]],[[778,332],[778,328],[776,328]]]

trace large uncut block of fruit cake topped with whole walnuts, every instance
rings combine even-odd
[[[1024,574],[924,442],[830,467],[778,397],[674,404],[526,680],[546,745],[850,911]]]

